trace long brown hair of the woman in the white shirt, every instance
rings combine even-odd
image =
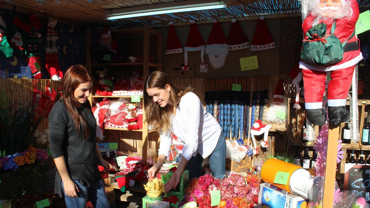
[[[161,108],[159,105],[155,104],[152,98],[148,95],[147,89],[165,89],[167,84],[171,86],[169,99],[176,107],[179,105],[181,97],[186,93],[191,92],[191,88],[189,87],[186,89],[177,87],[172,82],[171,78],[161,71],[154,71],[153,73],[149,74],[144,83],[143,100],[146,117],[145,121],[148,123],[148,125],[151,125],[155,131],[159,131],[161,133],[171,131],[171,111],[167,107]]]

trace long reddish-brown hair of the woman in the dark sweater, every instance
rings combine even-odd
[[[90,137],[90,128],[88,128],[88,122],[84,115],[77,110],[78,101],[74,97],[74,91],[77,89],[79,84],[87,83],[93,80],[94,77],[92,77],[90,71],[84,66],[78,64],[68,68],[61,83],[63,88],[63,97],[61,99],[63,99],[65,107],[73,118],[75,128],[80,137],[82,128],[85,135],[85,140],[88,140]]]

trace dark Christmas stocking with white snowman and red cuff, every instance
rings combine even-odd
[[[16,16],[13,20],[13,24],[9,27],[9,31],[11,31],[10,34],[13,34],[9,43],[11,47],[13,47],[14,54],[19,57],[27,56],[25,41],[27,34],[32,29],[32,26],[24,23]]]

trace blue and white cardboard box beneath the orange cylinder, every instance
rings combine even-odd
[[[295,194],[283,194],[281,189],[260,184],[258,195],[258,208],[301,208],[307,207],[309,199]]]

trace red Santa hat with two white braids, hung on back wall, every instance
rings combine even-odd
[[[204,49],[205,49],[205,44],[203,41],[203,37],[201,33],[199,33],[198,27],[195,25],[195,20],[190,20],[190,31],[189,31],[189,36],[188,40],[186,41],[184,51],[185,51],[185,63],[184,66],[181,67],[182,70],[187,71],[189,70],[188,67],[188,51],[201,51],[201,69],[205,69],[206,65],[204,64]]]

